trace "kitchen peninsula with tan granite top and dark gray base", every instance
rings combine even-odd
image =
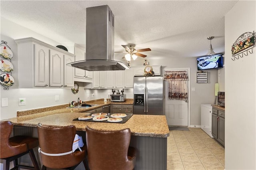
[[[98,103],[98,106],[94,107],[118,104],[101,101],[92,104],[96,103]],[[73,121],[73,119],[88,114],[81,113],[85,110],[86,109],[66,109],[66,107],[64,107],[53,111],[25,114],[25,116],[21,116],[24,113],[20,112],[17,113],[19,117],[8,119],[8,121],[14,123],[14,135],[27,134],[36,137],[36,127],[38,123],[55,126],[75,125],[78,130],[77,133],[82,135],[83,140],[85,140],[84,131],[86,126],[99,130],[130,128],[132,132],[130,146],[138,150],[135,169],[166,170],[167,137],[169,136],[169,129],[164,115],[132,115],[126,123]],[[38,160],[38,162],[40,164],[40,160]],[[82,166],[78,166],[78,169],[80,169],[80,167],[83,168]]]

